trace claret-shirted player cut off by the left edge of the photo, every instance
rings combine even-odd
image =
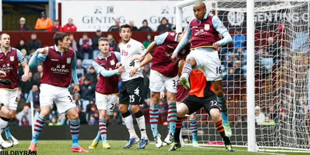
[[[17,145],[19,142],[16,140],[10,130],[8,122],[13,121],[16,115],[17,109],[17,89],[18,81],[17,70],[18,63],[24,68],[24,75],[21,80],[26,82],[28,80],[29,66],[24,59],[24,55],[16,48],[10,47],[10,35],[3,33],[1,34],[1,50],[0,50],[0,70],[4,71],[6,76],[2,79],[8,79],[12,82],[11,85],[4,85],[0,83],[0,103],[5,106],[1,106],[1,119],[0,119],[0,129],[1,132],[4,129],[6,139],[11,143],[8,143],[2,139],[0,136],[0,145],[2,148],[8,148],[12,145]]]

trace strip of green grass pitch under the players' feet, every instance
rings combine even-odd
[[[19,145],[6,149],[5,151],[26,151],[30,145],[30,140],[20,140]],[[246,148],[234,147],[235,152],[226,152],[223,147],[200,147],[194,148],[184,146],[174,152],[168,152],[170,146],[163,146],[157,149],[154,141],[151,141],[145,149],[138,150],[137,144],[124,150],[123,146],[126,141],[109,140],[111,148],[102,149],[102,143],[98,144],[96,149],[90,150],[88,146],[92,140],[79,140],[80,146],[90,151],[88,155],[308,155],[306,153],[249,153]],[[71,140],[38,140],[37,155],[78,155],[71,153]]]

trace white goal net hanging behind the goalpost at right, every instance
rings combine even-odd
[[[259,151],[310,152],[309,2],[254,0],[253,68],[247,67],[247,0],[212,0],[205,4],[233,37],[233,43],[218,52],[233,145],[248,143],[246,73],[250,69],[255,70],[255,138]],[[184,6],[182,14],[176,15],[183,17],[183,26],[188,16],[193,16],[192,6]],[[222,144],[204,109],[197,111],[196,119],[201,145]],[[188,120],[184,120],[182,134],[190,142]]]

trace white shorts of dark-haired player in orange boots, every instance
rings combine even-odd
[[[40,107],[52,106],[53,102],[60,114],[77,107],[68,88],[42,83],[40,85]]]

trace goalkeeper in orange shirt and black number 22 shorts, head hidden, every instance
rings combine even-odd
[[[224,140],[225,148],[229,152],[233,152],[233,147],[229,137],[225,135],[222,125],[222,117],[220,115],[217,104],[217,96],[210,81],[206,81],[205,76],[199,69],[193,69],[189,81],[191,84],[188,95],[177,105],[177,126],[174,134],[174,143],[169,151],[175,151],[181,147],[180,132],[182,128],[182,119],[186,114],[192,114],[199,109],[204,108],[217,126],[217,131]]]

